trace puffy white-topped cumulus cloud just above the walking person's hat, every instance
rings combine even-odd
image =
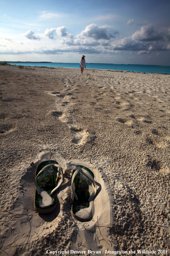
[[[101,27],[97,27],[96,24],[91,24],[88,25],[85,30],[83,30],[78,37],[83,38],[83,37],[91,37],[95,40],[99,40],[99,39],[106,39],[109,40],[110,38],[115,38],[115,36],[113,36],[112,34],[107,34],[107,30],[109,28],[112,28],[108,25],[104,25]]]

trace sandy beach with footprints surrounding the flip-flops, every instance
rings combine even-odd
[[[170,255],[170,75],[0,65],[0,145],[0,255]],[[64,182],[38,214],[46,159]],[[76,164],[100,188],[88,222],[70,214]]]

